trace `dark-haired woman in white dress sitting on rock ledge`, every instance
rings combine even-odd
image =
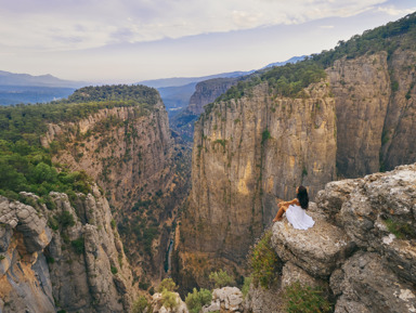
[[[278,212],[273,222],[282,221],[282,216],[286,212],[286,218],[296,230],[308,230],[315,224],[315,221],[307,214],[309,205],[308,191],[303,186],[296,188],[296,198],[291,201],[282,201],[277,204]]]

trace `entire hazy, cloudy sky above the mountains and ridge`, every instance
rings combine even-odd
[[[415,0],[0,0],[0,70],[96,82],[250,70],[415,11]]]

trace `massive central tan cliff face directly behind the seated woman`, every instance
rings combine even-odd
[[[307,93],[280,97],[260,84],[249,96],[213,104],[198,120],[181,227],[184,268],[196,262],[208,271],[218,260],[238,268],[272,220],[276,197],[294,197],[299,184],[313,196],[335,179],[335,102],[325,81]]]

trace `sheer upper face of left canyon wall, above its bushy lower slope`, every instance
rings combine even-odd
[[[50,125],[42,143],[53,140],[65,141],[55,160],[84,170],[113,205],[131,206],[139,195],[165,191],[171,182],[172,139],[161,101],[148,110],[114,107],[78,122]]]

